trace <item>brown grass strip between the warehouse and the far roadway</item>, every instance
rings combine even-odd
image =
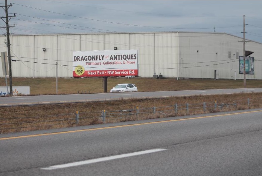
[[[56,94],[55,78],[13,78],[12,82],[13,86],[30,86],[30,95]],[[103,93],[103,78],[58,78],[57,82],[58,94]],[[139,92],[243,88],[243,80],[108,78],[107,92],[121,83],[135,84]],[[0,78],[0,86],[5,86],[4,78]],[[262,80],[246,80],[246,87],[262,87]]]

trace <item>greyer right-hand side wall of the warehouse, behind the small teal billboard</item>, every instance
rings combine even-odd
[[[237,52],[243,56],[241,38],[228,34],[212,33],[180,33],[180,77],[183,78],[214,78],[214,70],[218,70],[219,78],[243,79],[239,74]],[[261,60],[262,44],[248,42],[246,50],[254,53],[252,57]],[[197,52],[198,51],[198,52]],[[228,58],[228,51],[234,57]],[[258,64],[256,64],[258,63]],[[262,64],[255,61],[255,74],[246,75],[246,79],[262,79]]]

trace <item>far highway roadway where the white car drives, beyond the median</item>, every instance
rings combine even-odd
[[[210,90],[183,90],[159,92],[127,92],[127,93],[100,93],[100,94],[72,94],[72,95],[40,95],[40,96],[13,96],[0,97],[1,106],[19,106],[55,103],[76,103],[87,101],[118,100],[120,98],[161,98],[171,96],[214,95],[232,93],[262,92],[262,88],[245,89],[210,89]]]

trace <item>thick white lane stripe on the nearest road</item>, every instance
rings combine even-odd
[[[164,150],[167,150],[167,149],[144,150],[144,151],[140,151],[140,152],[127,153],[127,154],[97,158],[97,159],[92,159],[92,160],[84,160],[84,161],[78,161],[78,162],[74,162],[74,163],[54,165],[54,166],[49,166],[49,167],[45,167],[45,168],[41,168],[41,169],[44,169],[44,170],[62,169],[62,168],[66,168],[66,167],[80,166],[80,165],[91,164],[91,163],[98,163],[98,162],[102,162],[102,161],[115,160],[115,159],[119,159],[119,158],[130,157],[130,156],[144,155],[144,154],[153,153],[153,152],[160,152],[160,151],[164,151]]]

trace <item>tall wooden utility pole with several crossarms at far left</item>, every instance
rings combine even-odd
[[[0,6],[0,7],[5,7],[3,8],[5,11],[5,17],[1,17],[1,19],[3,20],[3,18],[5,18],[5,24],[6,24],[6,35],[7,35],[7,53],[8,53],[8,66],[9,66],[9,86],[10,86],[10,95],[13,95],[13,85],[12,85],[12,66],[11,66],[11,53],[10,53],[10,38],[9,38],[9,20],[11,19],[11,17],[16,16],[16,14],[14,14],[14,16],[8,16],[8,9],[9,7],[12,6],[12,4],[10,3],[10,5],[7,5],[7,1],[5,1],[5,5],[4,6]],[[10,26],[13,27],[13,26]]]

